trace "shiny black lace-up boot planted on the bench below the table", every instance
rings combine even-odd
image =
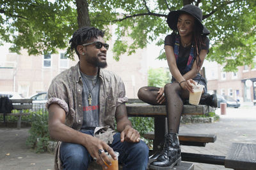
[[[168,133],[165,136],[163,150],[156,161],[151,162],[149,169],[167,170],[175,165],[180,165],[180,145],[178,134]]]

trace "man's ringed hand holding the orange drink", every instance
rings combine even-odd
[[[108,156],[104,152],[99,153],[99,150],[106,150],[114,160],[117,159],[113,148],[111,148],[104,141],[101,141],[100,139],[95,138],[93,136],[86,139],[85,147],[88,150],[88,152],[90,153],[90,155],[93,157],[93,159],[96,158],[96,163],[100,164],[105,169],[107,167],[106,164],[108,164],[108,165],[111,164],[111,161],[108,159]],[[106,162],[106,164],[104,162]]]

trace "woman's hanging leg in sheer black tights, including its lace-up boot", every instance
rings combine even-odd
[[[188,98],[188,92],[181,89],[178,83],[168,83],[164,86],[168,134],[164,138],[163,150],[156,161],[150,164],[151,169],[170,169],[181,161],[179,146],[179,125],[183,110],[182,99]]]

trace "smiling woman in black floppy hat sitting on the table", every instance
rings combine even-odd
[[[164,88],[142,87],[138,97],[149,104],[166,104],[168,134],[164,139],[164,147],[157,159],[150,164],[151,169],[170,169],[180,164],[180,146],[178,139],[180,117],[183,101],[193,92],[192,84],[199,81],[207,92],[207,84],[199,74],[204,59],[209,52],[210,33],[202,24],[202,11],[193,4],[181,10],[170,11],[167,18],[173,33],[166,36],[164,49],[168,66],[172,73],[172,83]],[[165,96],[164,96],[165,94]],[[205,103],[216,106],[216,96],[206,96]],[[205,104],[204,103],[204,104]]]

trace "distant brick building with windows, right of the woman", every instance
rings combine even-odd
[[[236,73],[224,72],[222,68],[216,63],[205,66],[209,92],[256,104],[256,66],[239,66]]]

